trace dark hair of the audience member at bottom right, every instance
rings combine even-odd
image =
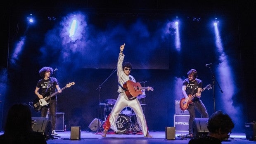
[[[207,122],[207,128],[212,133],[218,132],[219,128],[222,133],[228,133],[234,126],[235,124],[232,122],[230,116],[222,111],[213,113]]]

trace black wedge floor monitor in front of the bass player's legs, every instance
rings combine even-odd
[[[40,132],[45,136],[45,139],[49,139],[52,135],[52,126],[50,123],[50,118],[44,117],[32,117],[32,130],[35,132]]]

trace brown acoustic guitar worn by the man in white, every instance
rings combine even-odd
[[[142,94],[141,90],[154,90],[153,87],[141,87],[140,83],[134,83],[131,80],[128,80],[126,83],[124,83],[123,87],[126,89],[125,93],[129,99],[133,99],[137,96],[140,96]]]

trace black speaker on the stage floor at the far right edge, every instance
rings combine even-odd
[[[256,121],[245,123],[245,137],[250,140],[256,140]]]

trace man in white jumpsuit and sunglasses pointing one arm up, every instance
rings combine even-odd
[[[126,96],[126,93],[124,92],[124,88],[121,87],[123,86],[124,83],[126,83],[128,80],[132,80],[133,82],[136,82],[133,76],[130,75],[130,71],[132,69],[132,65],[129,62],[123,63],[124,59],[124,54],[123,54],[123,49],[124,49],[125,44],[120,46],[120,53],[117,61],[117,79],[119,83],[119,88],[117,92],[119,92],[119,96],[116,99],[116,103],[114,104],[114,107],[107,117],[107,120],[103,124],[103,132],[102,132],[102,137],[106,137],[107,131],[111,128],[114,131],[117,131],[116,127],[116,120],[119,116],[119,113],[125,108],[125,107],[130,107],[133,109],[137,122],[140,125],[140,128],[142,130],[142,133],[144,137],[152,137],[152,135],[149,134],[148,132],[148,127],[146,123],[146,119],[142,110],[142,107],[140,105],[139,100],[137,97],[133,99],[129,99]],[[120,86],[121,85],[121,86]],[[153,90],[152,87],[147,87],[147,90]]]

